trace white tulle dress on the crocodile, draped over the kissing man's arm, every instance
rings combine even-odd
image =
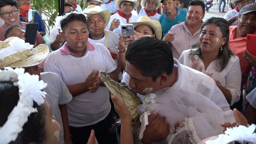
[[[164,88],[154,94],[156,103],[151,103],[151,107],[154,107],[155,113],[166,117],[171,127],[167,137],[168,143],[195,144],[209,136],[222,133],[220,124],[224,122],[224,112],[200,93],[192,90],[190,92],[170,91],[169,88]],[[147,115],[150,113],[143,105],[138,106],[138,111],[142,114],[140,136],[143,136],[148,124]],[[180,127],[174,133],[174,125],[177,122],[180,123]]]

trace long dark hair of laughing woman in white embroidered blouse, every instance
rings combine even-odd
[[[228,46],[229,25],[228,25],[228,22],[223,18],[211,17],[202,24],[200,28],[200,34],[202,33],[203,28],[206,25],[210,25],[210,24],[214,24],[215,26],[219,27],[222,33],[222,37],[226,37],[226,43],[222,45],[223,50],[219,51],[219,55],[215,63],[216,66],[219,68],[219,71],[222,71],[227,66],[230,57],[233,55],[233,53],[231,52]],[[194,55],[198,55],[199,57],[202,54],[199,43],[192,46],[192,48],[197,48],[197,50],[195,50],[193,53],[189,55],[191,59],[194,57]]]

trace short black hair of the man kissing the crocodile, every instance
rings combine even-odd
[[[153,81],[162,73],[170,75],[173,71],[172,50],[167,43],[153,37],[142,37],[129,44],[125,59]]]

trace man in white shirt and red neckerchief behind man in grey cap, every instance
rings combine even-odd
[[[233,3],[233,5],[235,5],[236,7],[230,11],[228,11],[225,15],[224,15],[224,19],[227,20],[228,24],[231,25],[237,25],[237,16],[239,14],[239,11],[242,7],[244,7],[245,5],[251,4],[251,0],[231,0],[231,2]]]

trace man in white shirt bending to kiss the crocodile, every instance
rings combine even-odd
[[[125,69],[128,76],[124,77],[124,82],[139,95],[147,97],[147,94],[151,93],[148,102],[151,104],[147,105],[142,100],[143,108],[149,109],[151,107],[151,110],[158,113],[148,117],[143,113],[141,118],[148,118],[148,125],[142,133],[142,143],[164,141],[169,132],[169,143],[177,143],[179,138],[183,142],[190,138],[192,142],[198,143],[200,139],[213,133],[220,133],[222,130],[217,127],[221,128],[220,124],[224,122],[224,119],[234,121],[229,104],[221,90],[216,86],[215,81],[172,58],[172,51],[165,42],[152,37],[140,38],[128,46],[125,58]],[[198,115],[193,115],[194,112]],[[213,113],[219,115],[217,119]],[[199,115],[202,117],[200,116],[201,118],[197,120],[194,119]],[[174,125],[179,119],[178,117],[180,119],[185,117],[185,123],[181,124],[175,133],[169,130],[169,125],[172,128],[177,127]],[[187,122],[187,120],[192,121]],[[142,121],[142,126],[144,126],[143,124]],[[206,126],[204,124],[207,127],[204,127]],[[194,128],[194,131],[191,132],[188,127]],[[184,133],[182,134],[181,131]],[[187,132],[189,135],[186,135]]]

